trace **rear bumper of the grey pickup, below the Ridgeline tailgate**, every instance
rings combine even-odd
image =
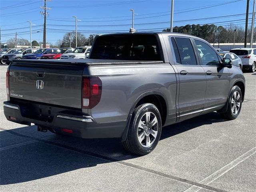
[[[26,105],[28,102],[4,102],[6,119],[25,125],[34,123],[55,132],[79,138],[120,138],[126,126],[126,121],[99,124],[93,117],[82,113],[82,111],[56,106],[30,103],[29,107],[32,107],[33,110],[29,111],[28,106],[24,106],[24,104]],[[38,110],[38,114],[35,114],[35,109]],[[46,116],[46,113],[50,115]],[[72,133],[63,132],[63,129],[72,130]]]

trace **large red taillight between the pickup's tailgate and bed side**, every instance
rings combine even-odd
[[[98,77],[83,77],[82,108],[91,109],[100,102],[102,82]]]

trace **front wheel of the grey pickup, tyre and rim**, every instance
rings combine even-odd
[[[240,114],[242,108],[242,92],[238,86],[234,86],[230,92],[228,99],[228,109],[224,113],[220,113],[222,118],[234,120]]]

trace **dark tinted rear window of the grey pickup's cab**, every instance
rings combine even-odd
[[[154,35],[128,34],[98,37],[91,59],[161,60],[158,41]]]

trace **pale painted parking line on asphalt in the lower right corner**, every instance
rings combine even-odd
[[[226,172],[228,172],[229,170],[231,170],[232,168],[234,168],[235,166],[237,166],[238,164],[240,164],[241,162],[243,162],[244,160],[246,160],[247,158],[249,158],[250,156],[252,156],[255,153],[256,153],[256,147],[254,147],[251,150],[249,150],[248,152],[242,154],[240,157],[236,158],[234,161],[230,162],[226,166],[220,168],[218,171],[209,175],[208,177],[206,177],[205,179],[203,179],[199,183],[204,184],[204,185],[210,184],[211,182],[218,179],[220,176],[224,175]],[[188,188],[184,192],[197,192],[200,189],[202,189],[202,188],[193,185],[192,187]]]

